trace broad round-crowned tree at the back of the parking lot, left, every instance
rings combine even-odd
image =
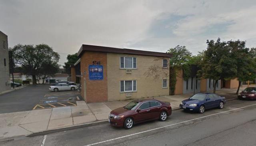
[[[32,76],[33,84],[36,84],[36,76],[39,75],[39,70],[45,62],[57,64],[60,59],[59,54],[47,44],[36,46],[18,44],[12,51],[14,63],[19,64],[25,74]]]

